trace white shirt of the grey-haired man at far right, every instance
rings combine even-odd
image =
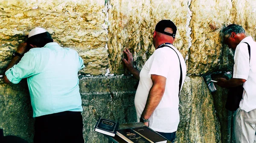
[[[250,64],[247,42],[250,45]],[[245,79],[243,98],[239,107],[246,112],[256,109],[256,42],[251,36],[236,46],[233,78]]]

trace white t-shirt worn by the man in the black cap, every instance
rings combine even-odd
[[[183,56],[173,46],[179,55],[182,67],[182,85],[186,77],[186,64]],[[175,132],[180,121],[179,115],[179,81],[180,62],[175,51],[169,47],[159,48],[147,60],[140,71],[140,82],[134,99],[137,120],[145,108],[149,90],[152,87],[151,74],[166,77],[166,87],[163,98],[149,118],[149,127],[157,132]]]

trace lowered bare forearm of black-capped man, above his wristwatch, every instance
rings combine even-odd
[[[152,113],[160,103],[163,97],[163,93],[164,93],[164,89],[154,86],[153,84],[153,86],[149,91],[147,103],[145,105],[145,108],[143,110],[141,117],[145,119],[150,118],[150,116],[152,115]]]

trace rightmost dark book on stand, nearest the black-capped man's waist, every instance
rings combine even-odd
[[[165,137],[158,134],[157,132],[154,132],[152,129],[149,129],[147,126],[134,128],[133,130],[148,140],[150,143],[167,143],[167,139]]]

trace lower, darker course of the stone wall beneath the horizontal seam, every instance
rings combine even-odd
[[[119,123],[136,122],[135,84],[131,76],[81,76],[86,143],[107,143],[106,137],[93,131],[99,117]],[[0,84],[0,102],[0,128],[5,135],[16,135],[32,142],[34,120],[28,92],[20,85]],[[220,140],[220,124],[207,85],[201,77],[187,76],[180,95],[177,143],[220,143]]]

